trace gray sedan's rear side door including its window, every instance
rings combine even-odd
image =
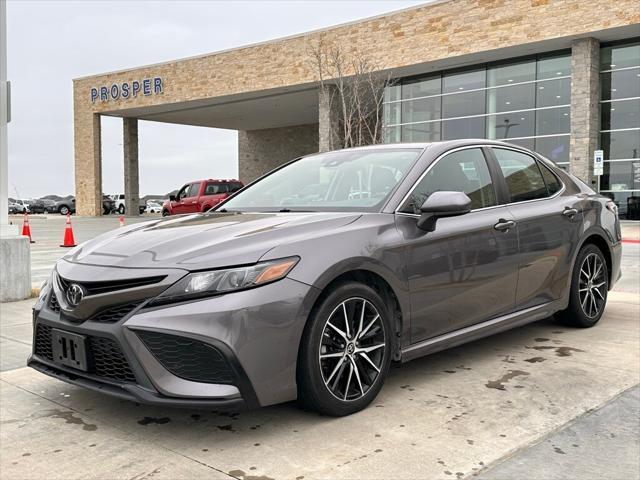
[[[516,304],[540,305],[562,296],[582,229],[581,199],[566,195],[556,175],[532,155],[493,147],[510,197],[520,246]]]

